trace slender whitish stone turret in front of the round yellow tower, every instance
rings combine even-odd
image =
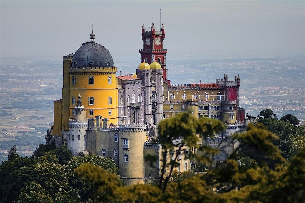
[[[69,135],[67,138],[67,148],[73,156],[87,150],[87,129],[88,119],[84,106],[81,105],[81,95],[78,94],[77,105],[75,106],[75,119],[69,120]]]

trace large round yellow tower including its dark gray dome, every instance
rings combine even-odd
[[[95,43],[93,32],[90,38],[75,54],[63,58],[62,100],[54,102],[53,135],[69,131],[68,122],[75,118],[78,94],[82,96],[87,118],[101,115],[109,123],[118,122],[117,67],[113,66],[109,51]]]

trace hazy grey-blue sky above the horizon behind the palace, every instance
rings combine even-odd
[[[0,0],[0,57],[62,59],[90,40],[140,60],[141,27],[165,27],[167,60],[305,54],[305,1]]]

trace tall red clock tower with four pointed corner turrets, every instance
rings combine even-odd
[[[163,79],[170,84],[167,79],[166,54],[167,50],[163,49],[163,40],[165,39],[165,29],[162,24],[161,30],[156,31],[155,25],[152,24],[150,31],[145,31],[144,24],[142,25],[142,40],[143,49],[139,50],[141,54],[141,63],[146,62],[151,64],[158,62],[163,68]]]

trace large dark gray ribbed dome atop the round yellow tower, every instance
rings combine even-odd
[[[75,52],[72,67],[113,67],[113,60],[105,46],[91,40]]]

